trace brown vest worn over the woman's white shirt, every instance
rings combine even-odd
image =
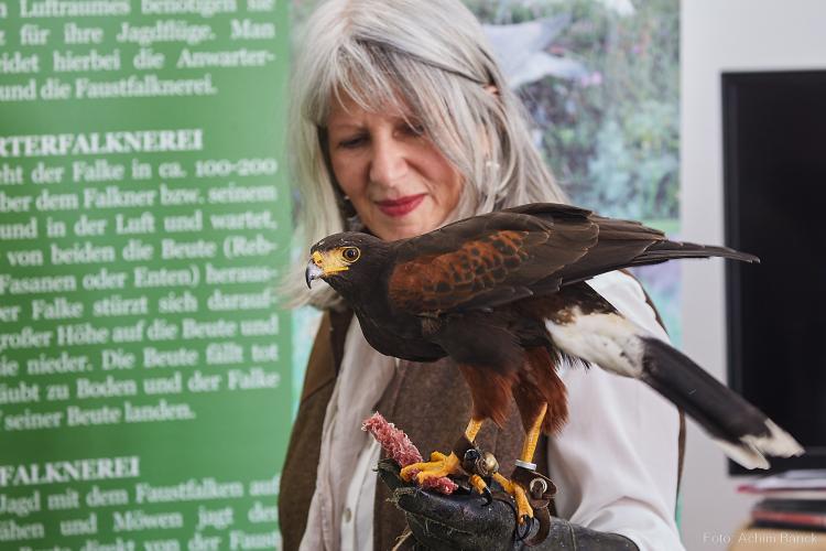
[[[286,551],[298,549],[304,536],[309,503],[315,490],[322,426],[351,320],[350,312],[326,313],[309,356],[279,493],[279,525],[283,549]],[[449,452],[467,426],[470,404],[468,387],[452,360],[443,359],[433,364],[402,361],[379,400],[377,411],[404,430],[422,455],[427,456],[432,451]],[[499,429],[492,422],[485,423],[477,442],[497,456],[502,473],[508,474],[519,457],[523,439],[524,431],[515,403],[511,403],[507,424]],[[534,462],[541,472],[547,474],[545,443],[545,436],[542,436]],[[682,430],[680,445],[682,467]],[[390,495],[383,484],[377,484],[376,490],[373,549],[389,550],[405,528],[404,516],[388,501]]]

